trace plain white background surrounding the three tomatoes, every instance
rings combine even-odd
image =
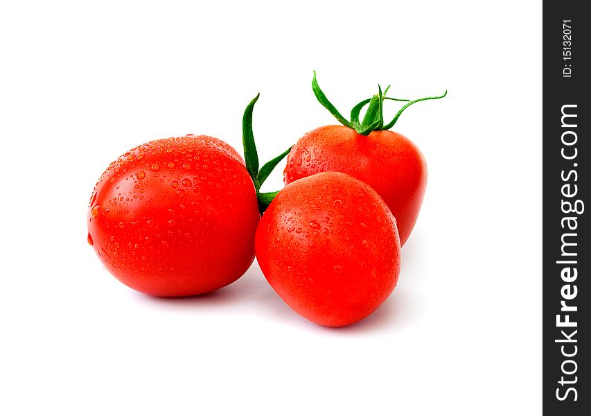
[[[540,413],[538,2],[7,1],[0,52],[1,414]],[[177,300],[102,268],[86,216],[109,162],[190,132],[241,152],[257,92],[266,161],[335,123],[312,69],[345,114],[377,83],[449,90],[394,128],[429,181],[376,313],[319,327],[256,263]]]

